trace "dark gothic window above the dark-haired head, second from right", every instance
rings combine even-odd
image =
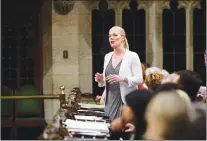
[[[169,72],[186,69],[185,9],[163,11],[163,68]]]

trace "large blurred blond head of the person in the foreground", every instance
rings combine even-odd
[[[187,130],[190,112],[190,105],[176,92],[160,92],[149,103],[145,116],[147,121],[153,118],[159,122],[164,139],[174,139],[182,134],[181,129]]]

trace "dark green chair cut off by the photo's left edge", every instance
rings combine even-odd
[[[2,96],[12,96],[13,90],[6,86],[1,86]],[[1,100],[1,139],[12,140],[14,119],[14,100]]]

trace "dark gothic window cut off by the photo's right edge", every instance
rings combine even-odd
[[[206,48],[206,9],[194,9],[193,11],[193,57],[194,71],[203,78],[206,84],[206,68],[204,64],[204,52]]]

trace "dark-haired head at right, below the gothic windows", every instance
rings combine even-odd
[[[176,74],[178,77],[175,82],[182,85],[190,99],[195,101],[199,88],[202,85],[202,80],[199,74],[190,70],[181,70],[176,72]]]

